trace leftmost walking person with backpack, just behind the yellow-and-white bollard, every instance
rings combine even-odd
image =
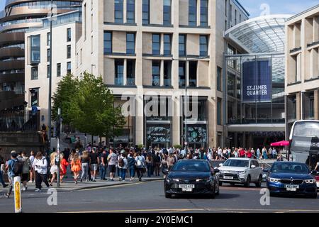
[[[8,171],[9,190],[4,196],[8,199],[13,189],[13,178],[18,177],[22,173],[22,162],[18,161],[18,154],[15,150],[11,151],[11,159],[6,162],[6,171]]]

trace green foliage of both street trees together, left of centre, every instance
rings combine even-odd
[[[69,87],[67,92],[66,87]],[[88,73],[84,73],[83,79],[67,76],[59,83],[55,96],[53,109],[62,106],[64,123],[91,135],[106,138],[121,135],[125,118],[121,106],[114,106],[113,94],[103,84],[102,77]]]

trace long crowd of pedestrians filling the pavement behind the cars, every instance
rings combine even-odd
[[[50,154],[41,152],[11,152],[11,158],[1,165],[0,183],[9,190],[5,194],[9,198],[13,189],[13,178],[21,176],[22,190],[26,191],[28,182],[35,182],[35,192],[40,192],[42,183],[50,188],[57,181],[64,183],[68,170],[72,172],[73,181],[96,182],[96,179],[114,181],[116,175],[119,181],[139,181],[144,175],[147,177],[159,177],[160,172],[170,170],[174,163],[180,159],[203,159],[203,160],[227,160],[230,157],[247,157],[256,159],[283,160],[280,153],[274,148],[106,148],[106,146],[89,144],[86,149],[65,148],[59,153]],[[58,166],[60,163],[60,166]],[[7,172],[9,184],[5,184],[4,172]],[[57,173],[60,179],[57,179]],[[107,176],[108,174],[108,176]],[[127,177],[128,175],[128,177]],[[107,178],[108,177],[108,178]]]

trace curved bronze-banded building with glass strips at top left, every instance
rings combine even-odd
[[[0,111],[24,108],[24,33],[43,25],[42,18],[47,17],[50,2],[6,0],[5,9],[0,13]],[[74,6],[79,7],[81,3],[82,0],[55,0],[54,13],[74,11]]]

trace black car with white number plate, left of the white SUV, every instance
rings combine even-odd
[[[166,198],[172,194],[208,194],[215,198],[219,194],[219,180],[211,164],[206,160],[179,160],[172,170],[163,171],[164,193]]]

